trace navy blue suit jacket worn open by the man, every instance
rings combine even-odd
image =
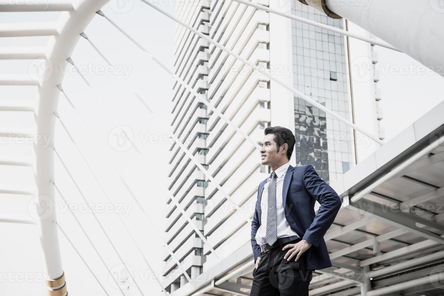
[[[258,201],[256,201],[251,221],[251,246],[253,247],[254,262],[261,256],[261,249],[255,236],[261,225],[261,197],[267,179],[259,185]],[[331,267],[329,252],[323,237],[341,208],[341,198],[330,185],[319,178],[312,165],[290,165],[284,177],[282,199],[285,217],[291,229],[299,237],[312,244],[305,251],[307,253],[305,256],[307,269],[317,270]],[[316,215],[314,212],[315,201],[321,205]]]

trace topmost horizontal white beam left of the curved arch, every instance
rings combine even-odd
[[[49,12],[73,10],[74,8],[69,0],[8,0],[0,2],[0,12]]]

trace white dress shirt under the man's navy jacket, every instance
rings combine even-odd
[[[284,165],[278,167],[274,173],[277,176],[276,179],[276,215],[277,215],[277,238],[279,237],[291,237],[293,235],[297,235],[291,229],[290,225],[285,218],[284,206],[282,204],[282,187],[284,185],[284,177],[285,173],[290,166],[290,162],[285,163]],[[262,191],[261,197],[261,226],[259,226],[258,232],[256,233],[256,242],[258,245],[263,245],[266,243],[266,230],[267,230],[267,209],[268,209],[268,185],[270,184],[270,177],[267,179],[267,182],[264,185],[264,190]]]

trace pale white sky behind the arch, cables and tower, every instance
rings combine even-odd
[[[173,1],[160,3],[163,9],[174,13]],[[176,28],[172,20],[136,0],[129,0],[123,6],[117,6],[115,1],[111,1],[111,4],[103,8],[103,12],[153,55],[172,67]],[[2,22],[56,20],[57,17],[58,13],[50,12],[0,13]],[[123,261],[132,270],[140,288],[150,291],[149,295],[162,295],[144,257],[160,276],[163,258],[159,254],[165,252],[162,240],[168,194],[162,188],[159,177],[166,182],[165,176],[170,169],[167,162],[171,142],[166,139],[172,119],[170,110],[173,80],[102,17],[96,16],[85,33],[116,67],[110,69],[114,74],[100,74],[100,71],[107,69],[106,63],[86,40],[79,40],[71,58],[79,68],[86,71],[85,77],[93,89],[84,84],[72,67],[67,69],[63,89],[75,109],[61,95],[58,114],[75,143],[58,120],[54,136],[56,151],[76,183],[72,182],[58,157],[55,161],[55,183],[114,275],[121,274],[123,265],[94,216],[83,209],[87,205],[83,197],[90,201],[91,206],[109,205],[107,198],[119,206],[119,209],[113,208],[113,213],[99,213],[99,208],[96,208],[96,216]],[[0,46],[45,45],[47,42],[48,37],[1,38]],[[380,107],[385,114],[381,124],[385,127],[388,141],[443,100],[441,86],[444,78],[431,73],[420,75],[417,71],[409,71],[405,75],[396,74],[393,69],[409,65],[420,68],[421,65],[399,52],[378,46],[375,46],[375,51],[379,53],[377,67],[381,71],[381,80],[378,83],[378,87],[382,89]],[[0,74],[23,74],[33,67],[35,64],[29,61],[0,61]],[[131,87],[128,88],[126,84]],[[154,114],[139,102],[133,95],[134,92],[139,94]],[[1,100],[33,100],[35,96],[33,87],[0,87]],[[88,127],[83,124],[83,120]],[[2,130],[7,126],[32,127],[32,123],[32,114],[0,114]],[[121,137],[123,131],[133,139],[142,156],[134,146],[131,147],[131,143],[124,141]],[[31,156],[32,145],[2,142],[0,155]],[[33,174],[31,168],[0,166],[0,184],[32,185]],[[138,202],[131,197],[122,179]],[[29,205],[32,205],[32,197],[4,195],[2,200],[6,206],[0,209],[0,213],[27,214]],[[121,295],[59,193],[56,193],[56,209],[59,225],[109,295]],[[143,256],[115,212],[120,214],[130,229],[131,235],[143,251]],[[159,236],[155,229],[159,229],[162,235]],[[0,234],[5,238],[4,243],[0,244],[0,294],[46,295],[41,276],[43,260],[36,226],[4,223],[0,225]],[[104,295],[91,272],[60,232],[59,242],[70,295],[83,295],[86,287],[89,289],[88,295]],[[135,283],[130,285],[125,294],[139,295]]]

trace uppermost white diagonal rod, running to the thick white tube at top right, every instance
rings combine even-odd
[[[335,33],[338,33],[338,34],[341,34],[341,35],[344,35],[344,36],[349,36],[349,37],[354,38],[354,39],[362,40],[362,41],[365,41],[365,42],[368,42],[368,43],[372,43],[372,44],[379,45],[379,46],[382,46],[382,47],[385,47],[385,48],[389,48],[389,49],[392,49],[394,51],[399,51],[398,49],[396,49],[395,47],[393,47],[392,45],[390,45],[389,43],[384,42],[384,41],[379,41],[377,39],[369,38],[369,37],[366,37],[366,36],[361,36],[359,34],[354,34],[352,32],[345,31],[345,30],[342,30],[342,29],[339,29],[339,28],[335,28],[333,26],[329,26],[329,25],[326,25],[326,24],[322,24],[322,23],[316,22],[314,20],[306,19],[304,17],[294,16],[294,15],[289,14],[289,13],[278,12],[278,11],[276,11],[274,9],[271,9],[271,8],[268,8],[268,7],[264,6],[264,5],[256,4],[256,3],[253,3],[253,2],[250,2],[250,1],[246,1],[246,0],[233,0],[233,1],[245,4],[245,5],[248,5],[248,6],[251,6],[251,7],[260,9],[260,10],[263,10],[263,11],[266,11],[266,12],[274,13],[274,14],[277,14],[278,16],[286,17],[287,19],[297,20],[297,21],[300,21],[301,23],[309,24],[309,25],[312,25],[312,26],[315,26],[315,27],[318,27],[318,28],[322,28],[322,29],[325,29],[325,30],[329,30],[331,32],[335,32]]]

